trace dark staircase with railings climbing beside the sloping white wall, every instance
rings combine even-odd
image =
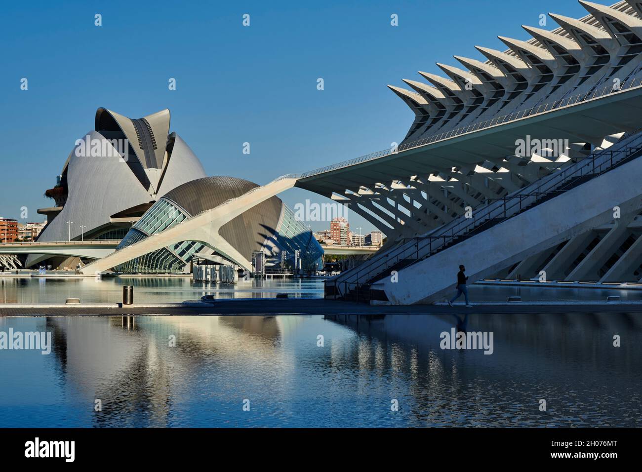
[[[595,152],[562,170],[546,175],[506,197],[489,200],[486,205],[474,210],[472,218],[461,216],[426,236],[400,240],[397,245],[375,254],[366,263],[327,280],[325,296],[369,302],[373,297],[377,297],[377,294],[370,290],[370,285],[390,276],[392,271],[399,271],[461,241],[473,238],[508,218],[636,159],[642,155],[640,130],[642,128],[625,134],[618,143],[606,150]]]

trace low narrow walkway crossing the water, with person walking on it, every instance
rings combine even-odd
[[[0,304],[0,316],[118,315],[412,315],[425,313],[642,313],[642,302],[480,302],[471,308],[444,305],[370,306],[325,299],[234,299],[205,303]]]

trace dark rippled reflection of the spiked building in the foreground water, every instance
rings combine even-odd
[[[392,379],[420,424],[452,426],[639,425],[636,377],[642,322],[627,313],[338,316],[358,335],[333,349],[335,365]],[[493,331],[494,353],[440,349],[440,333],[462,326]],[[613,336],[627,338],[614,347]],[[636,380],[634,380],[636,379]],[[368,394],[364,390],[363,394]],[[548,414],[537,408],[549,402]],[[402,401],[401,399],[399,400]]]

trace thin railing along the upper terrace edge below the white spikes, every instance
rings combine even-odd
[[[444,131],[440,134],[435,134],[429,137],[424,137],[423,139],[417,139],[415,141],[410,141],[410,143],[404,143],[401,144],[395,148],[387,148],[385,150],[373,152],[370,154],[362,155],[361,157],[356,157],[354,159],[350,159],[349,161],[343,161],[343,162],[338,162],[336,164],[331,164],[329,166],[321,167],[315,170],[311,170],[309,172],[303,173],[300,177],[300,179],[306,179],[306,177],[313,177],[314,175],[318,175],[320,173],[324,172],[329,172],[337,169],[342,169],[345,167],[353,166],[354,164],[360,164],[361,162],[367,162],[367,161],[372,161],[374,159],[379,159],[381,157],[385,157],[387,155],[395,154],[400,151],[407,151],[413,148],[419,148],[421,146],[426,146],[427,144],[432,144],[435,143],[436,141],[442,141],[444,139],[450,139],[451,137],[459,136],[462,134],[466,134],[468,132],[474,132],[474,131],[479,131],[483,130],[486,128],[494,127],[496,125],[504,125],[505,123],[508,123],[509,121],[516,121],[517,119],[522,119],[522,118],[527,118],[529,116],[533,116],[539,113],[545,113],[545,112],[550,112],[552,110],[557,110],[563,107],[568,107],[571,105],[576,105],[577,103],[582,103],[587,100],[593,100],[594,98],[600,98],[604,95],[609,95],[612,93],[617,93],[617,92],[623,92],[628,89],[632,89],[634,87],[639,87],[642,85],[642,78],[636,78],[632,77],[628,80],[625,80],[625,82],[622,82],[620,84],[620,87],[616,89],[612,85],[607,85],[603,89],[595,89],[593,93],[591,94],[591,91],[587,91],[581,94],[573,95],[568,98],[561,98],[558,100],[554,101],[549,101],[547,103],[542,103],[541,105],[538,105],[537,107],[530,107],[529,109],[525,110],[517,110],[515,112],[512,112],[508,115],[503,115],[499,116],[496,118],[492,119],[487,119],[485,121],[482,121],[480,123],[472,123],[471,125],[467,125],[465,127],[460,127],[460,128],[455,128],[450,131]],[[599,93],[598,93],[599,91]],[[580,97],[582,97],[582,100],[580,100]]]

